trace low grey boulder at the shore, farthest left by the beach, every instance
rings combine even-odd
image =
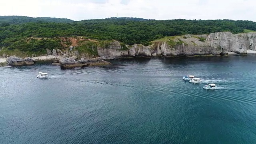
[[[34,64],[31,58],[18,58],[16,56],[6,58],[6,62],[10,66],[26,66]]]

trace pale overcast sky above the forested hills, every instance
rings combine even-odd
[[[1,0],[0,16],[256,21],[256,0]]]

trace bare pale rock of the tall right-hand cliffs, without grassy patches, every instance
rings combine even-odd
[[[198,38],[204,38],[205,42],[200,41]],[[242,34],[216,32],[209,35],[196,36],[188,34],[178,39],[183,43],[176,46],[170,46],[167,41],[156,42],[151,47],[152,53],[162,56],[220,55],[230,52],[247,54],[247,50],[256,50],[256,32]]]

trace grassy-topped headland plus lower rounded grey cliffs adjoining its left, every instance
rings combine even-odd
[[[200,41],[201,38],[201,41]],[[102,58],[138,57],[138,56],[192,56],[192,55],[220,55],[227,54],[225,49],[211,46],[211,42],[202,42],[207,35],[186,35],[166,37],[152,41],[152,45],[134,44],[123,45],[114,41],[108,47],[98,47],[98,55]]]

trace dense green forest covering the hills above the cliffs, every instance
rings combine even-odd
[[[61,18],[0,16],[0,48],[43,50],[60,46],[58,37],[84,36],[98,40],[118,40],[124,44],[149,45],[164,36],[210,34],[230,31],[233,34],[256,30],[256,22],[245,20],[150,20],[142,18],[106,18],[73,21]],[[26,42],[30,37],[47,38]]]

